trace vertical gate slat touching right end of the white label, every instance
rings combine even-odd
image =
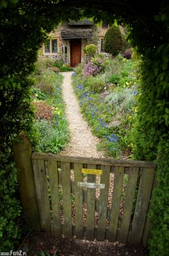
[[[105,184],[105,189],[100,189],[99,198],[99,225],[97,228],[97,240],[104,240],[106,234],[106,212],[107,212],[107,199],[109,192],[110,181],[110,166],[101,166],[103,174],[100,175],[100,182]]]

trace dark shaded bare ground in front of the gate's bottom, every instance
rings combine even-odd
[[[53,255],[57,250],[58,256],[147,256],[140,245],[124,245],[109,242],[57,238],[51,234],[36,233],[31,239],[32,249],[29,255],[40,255],[38,251]]]

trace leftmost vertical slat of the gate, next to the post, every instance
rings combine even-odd
[[[32,164],[35,176],[35,189],[39,206],[41,230],[47,230],[50,232],[51,218],[45,164],[43,160],[33,160]]]

